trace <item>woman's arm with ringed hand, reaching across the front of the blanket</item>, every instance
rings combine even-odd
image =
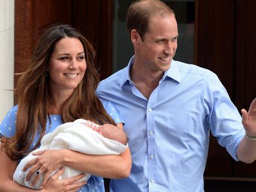
[[[122,126],[120,128],[122,129]],[[106,178],[125,178],[131,171],[129,148],[121,155],[86,155],[69,149],[39,151],[34,155],[39,156],[28,162],[24,168],[32,166],[27,174],[28,179],[37,169],[44,172],[45,178],[47,178],[52,171],[63,166]]]

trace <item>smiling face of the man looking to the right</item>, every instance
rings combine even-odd
[[[149,30],[143,41],[138,37],[134,44],[135,62],[151,72],[164,72],[175,56],[178,39],[178,26],[175,16],[155,15],[149,18]]]

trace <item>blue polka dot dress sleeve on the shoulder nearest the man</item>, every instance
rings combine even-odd
[[[120,115],[120,112],[113,105],[113,103],[111,103],[110,101],[106,101],[106,100],[100,100],[100,101],[103,104],[103,107],[105,108],[105,110],[107,111],[109,116],[111,116],[112,120],[114,120],[114,122],[123,123],[123,125],[125,124],[123,122],[123,119],[122,119],[121,115]]]

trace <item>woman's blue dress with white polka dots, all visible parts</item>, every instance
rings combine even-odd
[[[120,118],[120,114],[116,107],[112,105],[109,101],[101,100],[105,110],[111,116],[111,118],[116,123],[123,123]],[[16,115],[17,115],[17,105],[12,107],[10,111],[6,114],[3,122],[0,124],[0,136],[5,136],[5,138],[10,138],[16,134]],[[46,133],[52,132],[56,127],[62,124],[61,115],[50,115],[50,120],[52,124],[50,125],[49,120],[47,120],[47,129]],[[36,141],[39,138],[39,134],[36,135],[34,142],[32,143],[31,149],[36,145]],[[87,180],[87,184],[85,184],[78,192],[103,192],[104,189],[104,181],[100,176],[91,176],[89,180]]]

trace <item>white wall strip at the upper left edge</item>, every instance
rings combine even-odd
[[[14,103],[14,0],[0,0],[0,122]]]

